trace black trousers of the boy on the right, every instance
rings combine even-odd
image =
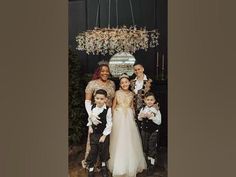
[[[141,130],[143,151],[148,157],[155,158],[157,155],[159,132],[147,132]]]

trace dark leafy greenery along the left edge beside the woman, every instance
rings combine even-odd
[[[84,89],[88,77],[81,73],[76,51],[69,49],[69,145],[79,145],[87,135]],[[83,76],[83,77],[82,77]]]

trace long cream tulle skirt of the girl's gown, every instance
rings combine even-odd
[[[108,167],[112,176],[124,177],[135,177],[147,168],[131,108],[114,110]]]

